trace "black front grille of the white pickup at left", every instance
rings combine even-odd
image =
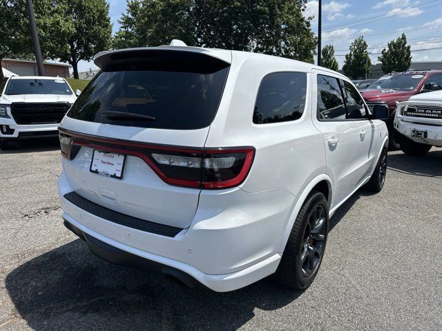
[[[11,113],[17,124],[60,123],[70,104],[64,103],[12,103]]]

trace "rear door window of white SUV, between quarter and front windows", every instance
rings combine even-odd
[[[345,119],[345,115],[338,79],[318,74],[318,119]]]

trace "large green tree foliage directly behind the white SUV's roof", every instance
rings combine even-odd
[[[128,0],[114,48],[189,46],[247,50],[313,62],[316,38],[303,0]]]

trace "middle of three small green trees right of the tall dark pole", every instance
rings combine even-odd
[[[368,45],[364,37],[354,39],[350,45],[350,51],[345,55],[343,71],[345,75],[352,79],[365,77],[372,68],[372,61],[367,52]]]

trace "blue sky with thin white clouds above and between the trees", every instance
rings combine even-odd
[[[126,1],[108,0],[113,31],[118,30],[118,19],[126,10]],[[305,16],[314,17],[311,29],[318,31],[318,1],[309,0]],[[402,32],[412,46],[413,61],[442,61],[442,0],[323,0],[323,46],[334,45],[335,54],[346,54],[352,41],[363,35],[369,52],[379,53],[387,42]],[[419,51],[422,50],[422,51]],[[370,55],[376,63],[378,54]],[[337,56],[339,68],[344,57]],[[96,67],[81,61],[79,71]]]

